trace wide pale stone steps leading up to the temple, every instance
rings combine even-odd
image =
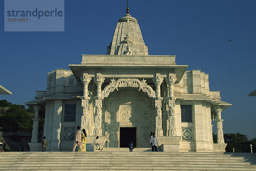
[[[256,170],[255,153],[1,152],[0,161],[0,170]]]

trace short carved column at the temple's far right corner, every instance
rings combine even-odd
[[[221,106],[218,106],[217,109],[216,109],[216,113],[217,113],[217,120],[216,120],[216,123],[217,123],[217,143],[220,143],[220,144],[224,144],[224,137],[223,137],[223,125],[222,125],[222,122],[223,120],[221,119]]]

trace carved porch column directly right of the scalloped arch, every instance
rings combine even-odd
[[[163,97],[160,96],[160,86],[163,82],[163,78],[160,73],[156,73],[154,77],[154,83],[156,85],[156,97],[155,97],[155,134],[156,136],[163,136],[163,127],[162,127],[162,100]]]

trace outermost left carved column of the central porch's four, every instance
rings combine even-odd
[[[88,97],[88,85],[91,78],[88,77],[87,73],[81,75],[81,82],[83,83],[83,97],[81,97],[82,116],[81,116],[81,129],[85,129],[88,135],[90,135],[90,111],[89,111],[89,100]]]

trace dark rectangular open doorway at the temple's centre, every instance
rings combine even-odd
[[[120,128],[120,147],[129,147],[129,143],[134,141],[136,147],[136,128]]]

